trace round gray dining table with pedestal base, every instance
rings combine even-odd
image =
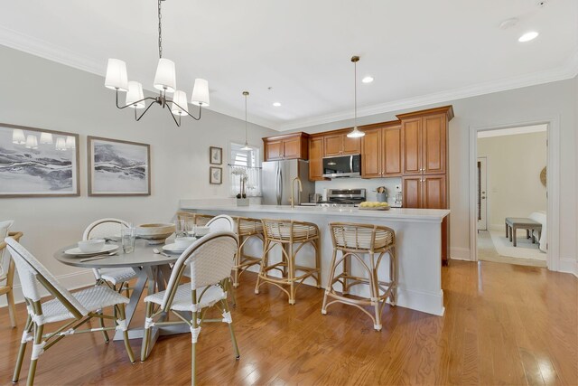
[[[57,250],[54,253],[54,258],[63,264],[79,268],[133,268],[137,278],[135,286],[131,287],[132,292],[126,306],[126,323],[129,339],[142,338],[144,319],[135,320],[134,316],[144,288],[147,288],[147,294],[163,291],[171,277],[171,264],[179,259],[180,254],[154,253],[154,249],[162,250],[163,245],[150,245],[147,240],[142,239],[135,240],[135,250],[131,253],[123,252],[120,241],[107,240],[108,244],[118,245],[117,254],[112,256],[75,256],[64,253],[66,250],[76,247],[76,245],[71,245]],[[163,325],[153,328],[153,339],[149,345],[149,352],[160,335],[189,333],[188,327],[183,328],[182,325]],[[122,332],[117,331],[114,339],[122,340]]]

